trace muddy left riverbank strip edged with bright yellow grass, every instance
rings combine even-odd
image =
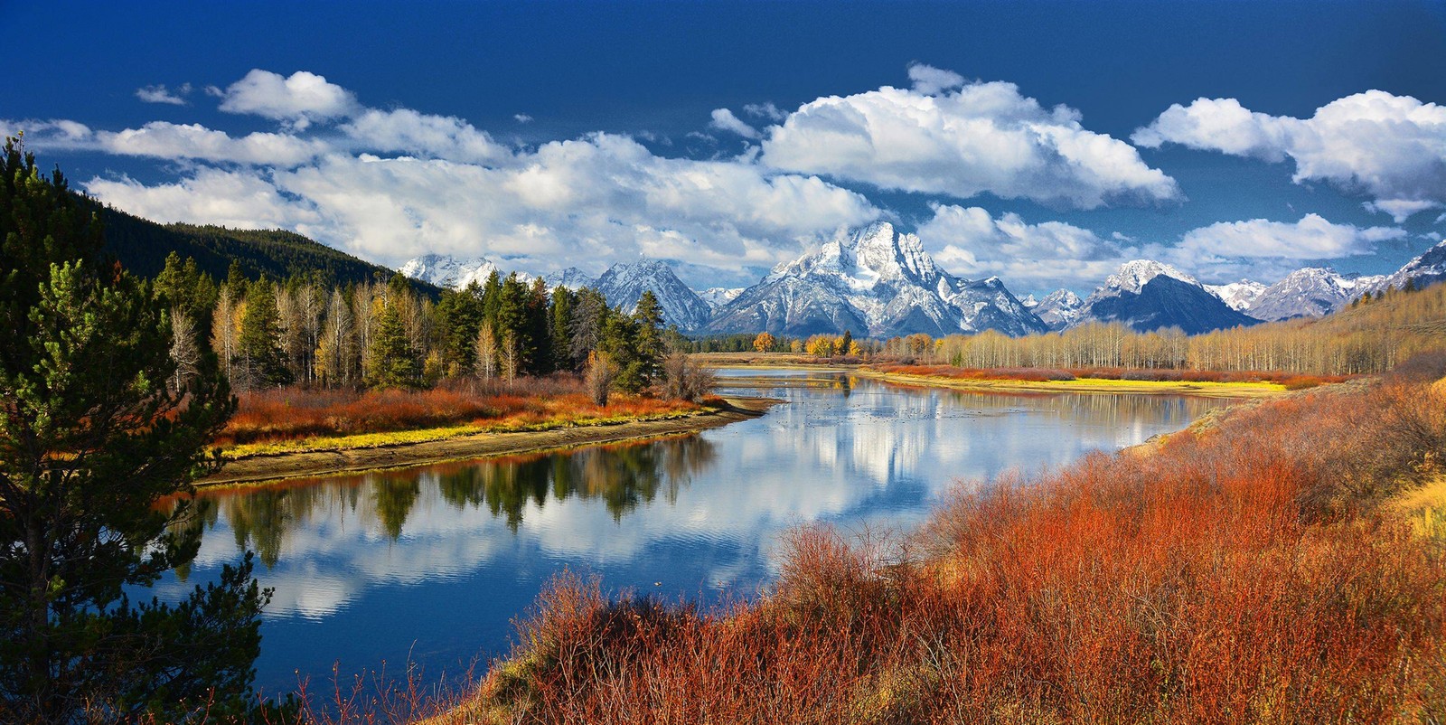
[[[291,450],[241,454],[233,450],[221,470],[197,480],[195,485],[257,483],[674,436],[756,418],[777,402],[781,401],[724,398],[722,405],[697,412],[557,424],[523,431],[469,433],[466,428],[432,428],[388,434],[389,443],[375,443],[367,436],[353,436],[348,437],[350,441],[334,438],[331,446],[324,449],[298,446]],[[414,440],[405,440],[406,437]],[[239,450],[247,449],[239,447]],[[223,456],[227,453],[223,451]]]

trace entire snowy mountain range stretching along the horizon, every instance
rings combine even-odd
[[[444,287],[486,281],[497,265],[484,258],[458,260],[425,255],[402,274]],[[944,336],[998,330],[1019,336],[1067,330],[1090,321],[1119,321],[1138,331],[1178,327],[1197,334],[1293,317],[1319,317],[1361,295],[1424,287],[1446,279],[1446,242],[1391,275],[1342,275],[1326,268],[1297,269],[1275,284],[1241,279],[1206,285],[1180,269],[1148,259],[1125,262],[1087,298],[1057,289],[1021,301],[998,278],[970,281],[943,271],[918,236],[886,221],[842,232],[798,259],[774,268],[748,288],[690,289],[665,262],[616,263],[593,278],[576,268],[548,275],[548,287],[591,287],[609,304],[632,310],[651,289],[664,318],[701,334],[758,333],[808,336],[850,330],[859,336],[912,333]]]

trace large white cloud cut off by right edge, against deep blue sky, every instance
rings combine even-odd
[[[1446,205],[1446,106],[1365,91],[1327,103],[1309,119],[1251,111],[1235,98],[1174,104],[1134,142],[1296,162],[1296,182],[1326,181],[1371,197],[1371,211],[1397,223]]]

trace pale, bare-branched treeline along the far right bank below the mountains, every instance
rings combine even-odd
[[[1180,370],[1368,375],[1446,347],[1446,285],[1395,289],[1346,310],[1187,336],[1137,333],[1119,323],[1008,337],[996,331],[894,337],[882,356],[956,368],[1150,368]]]

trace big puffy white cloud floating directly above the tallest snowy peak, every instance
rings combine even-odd
[[[885,190],[970,198],[989,192],[1095,208],[1176,200],[1176,181],[1134,146],[1086,130],[1079,111],[1045,109],[1011,82],[967,82],[915,65],[915,88],[817,98],[768,129],[762,161]],[[923,93],[936,91],[934,94]]]

